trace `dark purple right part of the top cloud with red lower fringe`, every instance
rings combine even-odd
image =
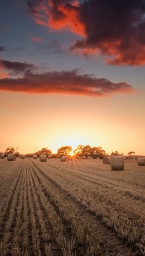
[[[72,49],[100,51],[114,65],[145,64],[144,0],[89,0],[79,11],[86,37]]]

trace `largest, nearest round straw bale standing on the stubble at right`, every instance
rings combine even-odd
[[[125,161],[123,156],[111,156],[110,168],[112,171],[123,171]]]

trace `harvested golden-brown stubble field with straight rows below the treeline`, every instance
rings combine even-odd
[[[144,180],[137,160],[0,159],[0,255],[145,255]]]

